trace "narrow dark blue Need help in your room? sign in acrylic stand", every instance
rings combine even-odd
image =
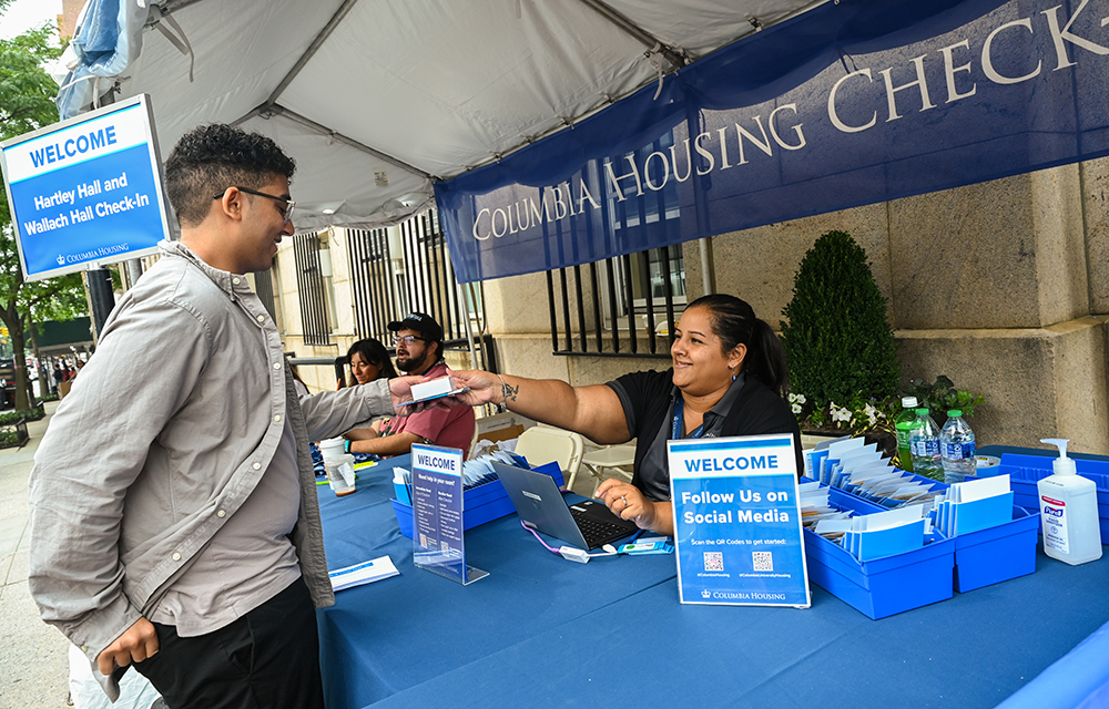
[[[488,576],[466,565],[462,452],[414,444],[413,563],[464,586]]]

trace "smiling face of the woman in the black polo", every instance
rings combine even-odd
[[[747,351],[743,345],[723,351],[720,338],[712,331],[712,316],[705,308],[683,312],[674,336],[676,339],[670,348],[674,386],[694,397],[726,389]]]

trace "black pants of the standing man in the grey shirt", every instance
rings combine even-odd
[[[159,651],[134,668],[171,709],[324,707],[316,612],[304,579],[207,635],[154,628]]]

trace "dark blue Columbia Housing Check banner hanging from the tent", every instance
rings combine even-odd
[[[438,183],[458,279],[1109,154],[1107,16],[1105,0],[827,2]]]

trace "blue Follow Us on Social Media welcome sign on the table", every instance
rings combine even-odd
[[[670,441],[682,603],[807,608],[792,434]]]

